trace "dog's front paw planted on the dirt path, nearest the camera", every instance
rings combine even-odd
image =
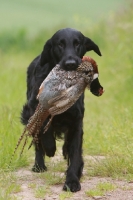
[[[79,181],[72,181],[72,182],[66,182],[63,186],[63,190],[65,191],[71,191],[71,192],[77,192],[81,190],[81,185]]]

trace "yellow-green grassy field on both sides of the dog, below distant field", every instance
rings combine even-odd
[[[93,52],[89,55],[99,65],[99,79],[105,89],[99,98],[86,91],[84,154],[105,156],[102,162],[86,164],[88,176],[133,180],[132,24],[130,7],[113,19],[99,22],[92,30],[84,31],[101,49],[102,57]],[[21,39],[23,34],[18,36]],[[38,41],[42,39],[29,42],[34,47]],[[26,68],[38,49],[42,49],[40,46],[29,51],[24,46],[23,51],[18,51],[17,43],[15,45],[11,51],[0,51],[0,200],[11,199],[10,193],[20,190],[17,185],[10,185],[16,180],[11,171],[29,165],[34,154],[32,149],[25,150],[19,158],[18,151],[8,169],[11,154],[23,130],[20,112],[26,98]]]

